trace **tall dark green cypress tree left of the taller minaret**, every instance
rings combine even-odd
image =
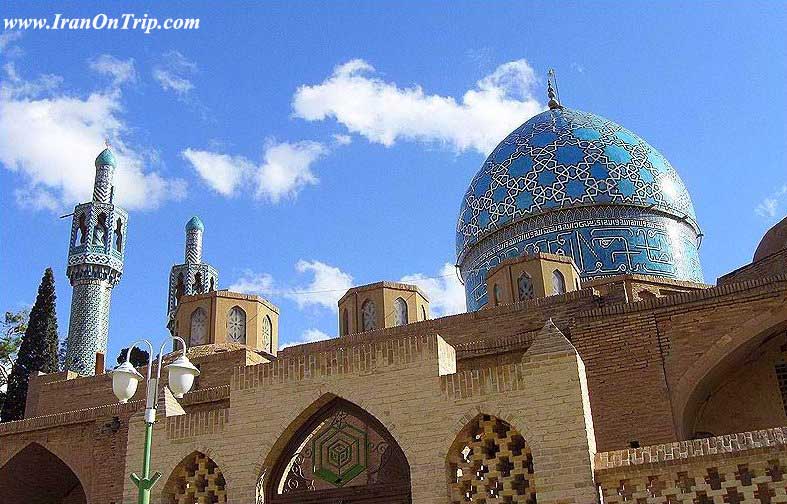
[[[55,299],[55,275],[52,268],[47,268],[38,286],[38,296],[30,310],[30,321],[8,377],[8,391],[0,414],[4,422],[24,418],[27,384],[32,373],[53,373],[58,370]]]

